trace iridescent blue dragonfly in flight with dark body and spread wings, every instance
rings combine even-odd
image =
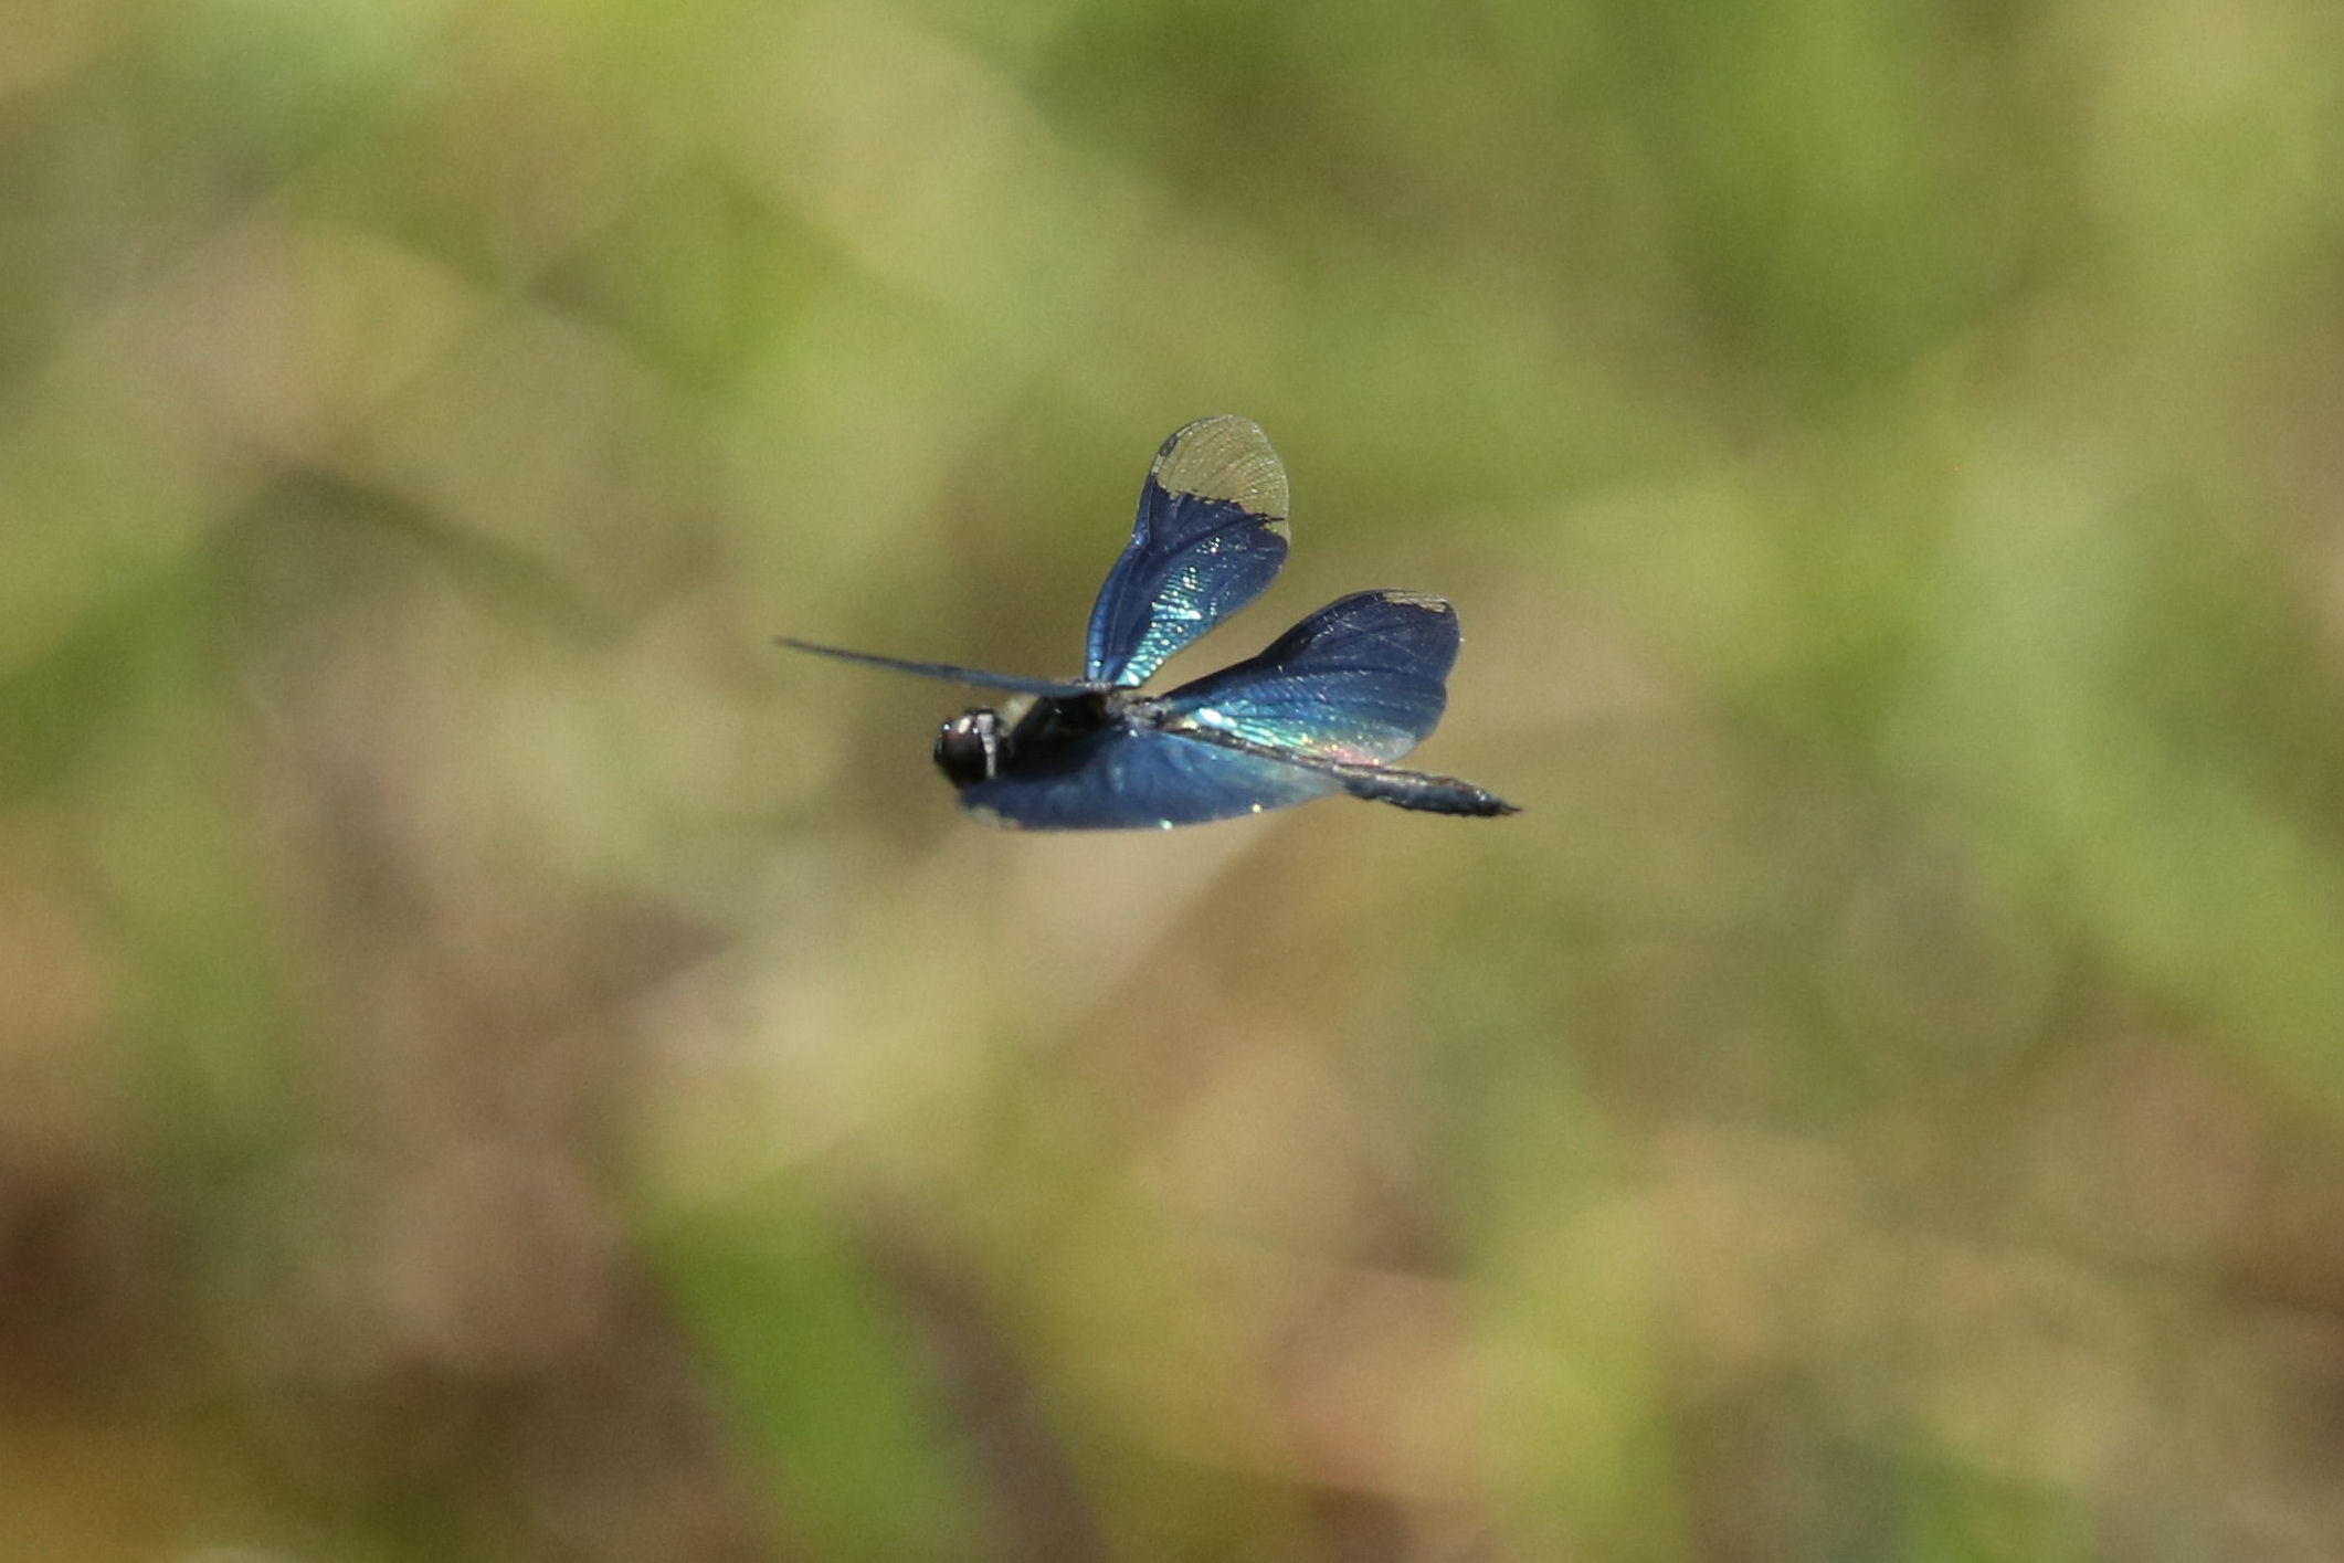
[[[961,806],[1015,830],[1170,830],[1350,794],[1453,815],[1519,813],[1456,776],[1390,762],[1449,703],[1458,614],[1442,598],[1362,591],[1259,656],[1167,694],[1139,687],[1268,588],[1287,560],[1287,471],[1245,417],[1174,431],[1090,609],[1081,680],[1031,680],[806,640],[781,644],[1010,696],[942,724],[935,764]]]

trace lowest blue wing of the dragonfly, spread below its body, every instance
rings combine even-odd
[[[1170,830],[1306,804],[1343,778],[1179,733],[1106,726],[1041,764],[961,787],[961,806],[1015,830]]]

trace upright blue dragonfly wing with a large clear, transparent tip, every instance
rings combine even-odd
[[[1287,562],[1287,469],[1245,417],[1202,417],[1156,452],[1123,558],[1090,607],[1083,677],[1137,687]]]

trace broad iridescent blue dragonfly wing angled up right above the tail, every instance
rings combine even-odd
[[[1341,762],[1399,759],[1439,724],[1458,614],[1439,598],[1362,591],[1329,602],[1261,656],[1156,701],[1170,729],[1200,726]]]

